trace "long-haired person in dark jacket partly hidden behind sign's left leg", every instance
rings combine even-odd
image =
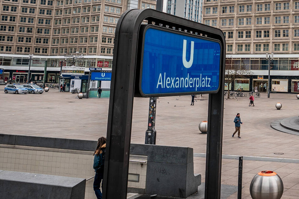
[[[106,150],[106,137],[100,137],[97,141],[97,149],[93,153],[93,169],[96,172],[93,181],[93,190],[97,196],[97,199],[102,199],[102,192],[100,189],[101,182],[104,176],[104,164],[105,164],[105,150]],[[103,188],[103,183],[102,183]]]

